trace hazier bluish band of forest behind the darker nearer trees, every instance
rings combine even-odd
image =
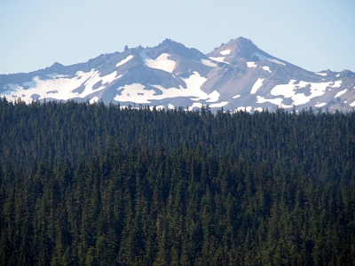
[[[81,158],[118,146],[163,147],[168,152],[201,145],[219,155],[232,154],[252,163],[268,161],[297,168],[302,174],[322,171],[339,176],[355,161],[355,112],[299,114],[213,114],[208,108],[151,111],[148,107],[121,109],[118,105],[22,102],[0,100],[0,161],[28,168],[35,161]],[[326,173],[327,172],[327,173]]]

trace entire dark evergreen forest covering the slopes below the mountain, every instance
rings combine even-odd
[[[355,113],[0,100],[0,265],[353,265]]]

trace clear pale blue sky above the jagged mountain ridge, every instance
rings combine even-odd
[[[354,0],[1,0],[0,74],[165,38],[209,52],[239,36],[307,70],[355,72]]]

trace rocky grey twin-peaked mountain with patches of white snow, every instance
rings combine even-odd
[[[153,48],[102,54],[86,63],[54,63],[28,74],[0,74],[0,95],[8,100],[74,99],[121,106],[189,109],[297,111],[321,107],[351,111],[355,73],[313,73],[260,50],[243,37],[208,54],[170,39]]]

